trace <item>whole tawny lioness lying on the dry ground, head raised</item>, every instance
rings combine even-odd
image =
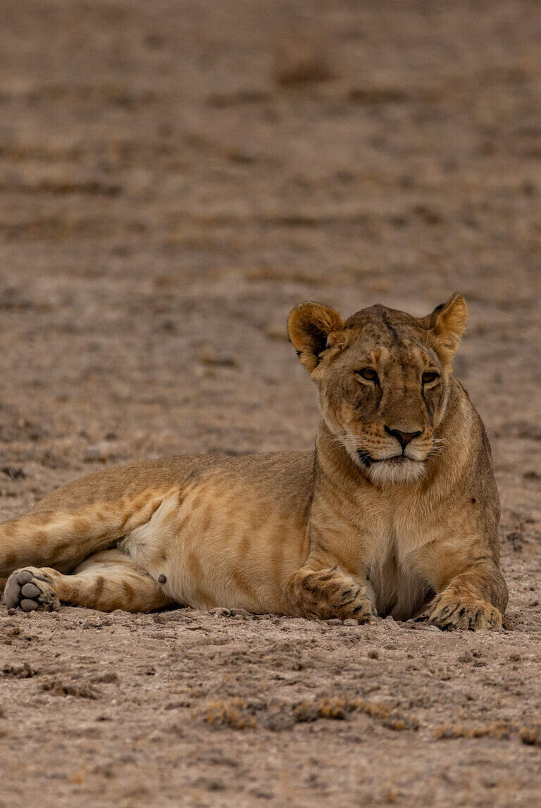
[[[497,629],[489,441],[451,368],[466,317],[459,294],[422,318],[297,306],[288,330],[317,385],[315,452],[168,457],[70,482],[0,524],[7,606]]]

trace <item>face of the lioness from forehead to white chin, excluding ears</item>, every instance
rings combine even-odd
[[[352,329],[347,346],[335,356],[329,349],[314,372],[325,422],[374,482],[421,477],[447,402],[435,352],[395,334]]]

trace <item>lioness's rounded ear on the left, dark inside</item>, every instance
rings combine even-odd
[[[289,339],[308,372],[317,367],[321,351],[330,347],[333,335],[343,328],[344,321],[338,311],[310,301],[293,309],[287,321]]]

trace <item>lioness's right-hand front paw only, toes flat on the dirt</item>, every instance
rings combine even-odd
[[[463,599],[455,592],[440,592],[417,618],[438,629],[500,629],[501,612],[486,600]]]

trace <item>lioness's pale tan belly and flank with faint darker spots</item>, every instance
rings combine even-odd
[[[180,604],[283,612],[287,578],[308,555],[308,497],[276,489],[213,475],[171,495],[122,545]]]

